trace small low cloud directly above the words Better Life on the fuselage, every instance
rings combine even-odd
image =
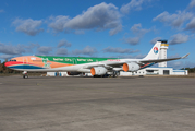
[[[96,48],[86,46],[83,50],[78,50],[78,49],[73,50],[72,55],[88,55],[88,56],[93,56],[96,52],[97,52]]]

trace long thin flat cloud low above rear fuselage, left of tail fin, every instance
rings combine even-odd
[[[122,49],[120,47],[113,48],[113,47],[107,47],[102,49],[103,52],[114,52],[114,53],[135,53],[139,50],[133,50],[133,49]]]

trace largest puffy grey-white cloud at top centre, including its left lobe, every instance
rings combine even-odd
[[[87,9],[82,14],[70,19],[69,16],[51,16],[49,27],[54,32],[69,29],[96,29],[103,31],[110,28],[110,35],[121,31],[120,13],[112,3],[100,3]]]

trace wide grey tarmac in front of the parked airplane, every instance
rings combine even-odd
[[[0,76],[0,131],[194,130],[194,78]]]

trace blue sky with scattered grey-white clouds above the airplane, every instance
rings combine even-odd
[[[174,69],[195,67],[195,0],[1,0],[0,60],[144,58],[167,39]]]

